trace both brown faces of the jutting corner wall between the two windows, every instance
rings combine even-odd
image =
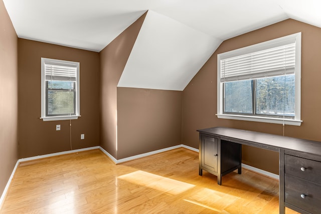
[[[182,92],[117,88],[145,16],[100,52],[101,147],[116,159],[181,144]]]

